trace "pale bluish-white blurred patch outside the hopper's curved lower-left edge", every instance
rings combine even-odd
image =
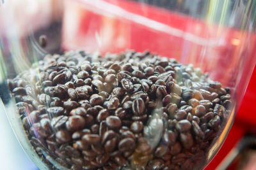
[[[10,127],[0,99],[0,169],[1,170],[37,170]]]

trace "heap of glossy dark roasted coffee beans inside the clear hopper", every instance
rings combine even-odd
[[[208,74],[148,51],[46,55],[8,86],[51,169],[195,169],[231,106]]]

